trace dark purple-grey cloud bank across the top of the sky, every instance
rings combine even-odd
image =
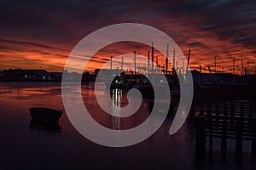
[[[88,34],[89,31],[102,25],[126,20],[143,23],[150,18],[159,17],[158,20],[151,20],[154,25],[158,21],[162,22],[160,18],[164,17],[170,20],[182,19],[185,25],[188,24],[186,26],[201,27],[203,30],[213,29],[219,37],[225,35],[230,37],[236,35],[236,29],[232,26],[247,23],[247,17],[243,17],[242,20],[240,18],[242,15],[250,14],[251,8],[247,7],[250,3],[253,1],[246,4],[243,1],[228,0],[130,1],[129,3],[73,0],[5,1],[1,4],[0,21],[3,23],[2,30],[12,27],[11,30],[26,34],[29,32],[32,37],[41,37],[42,34],[44,37],[47,33],[49,38],[56,39],[58,38],[56,35],[61,33],[73,38],[73,34],[76,33],[70,33],[72,31]],[[85,26],[88,31],[81,31]]]

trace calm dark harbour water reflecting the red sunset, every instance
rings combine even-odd
[[[100,93],[105,91],[102,89]],[[148,102],[143,100],[134,116],[113,119],[98,107],[94,94],[93,84],[83,85],[84,104],[91,116],[105,127],[135,127],[148,116]],[[118,105],[127,105],[125,94],[119,93],[113,99]],[[239,164],[235,163],[234,141],[228,144],[227,163],[221,163],[218,140],[214,141],[212,161],[208,157],[205,161],[197,161],[193,126],[184,124],[171,136],[168,133],[170,118],[142,143],[110,148],[80,135],[65,111],[60,129],[30,126],[28,108],[33,106],[64,111],[61,84],[0,82],[0,169],[252,169],[255,166],[250,142],[244,142],[243,160]]]

